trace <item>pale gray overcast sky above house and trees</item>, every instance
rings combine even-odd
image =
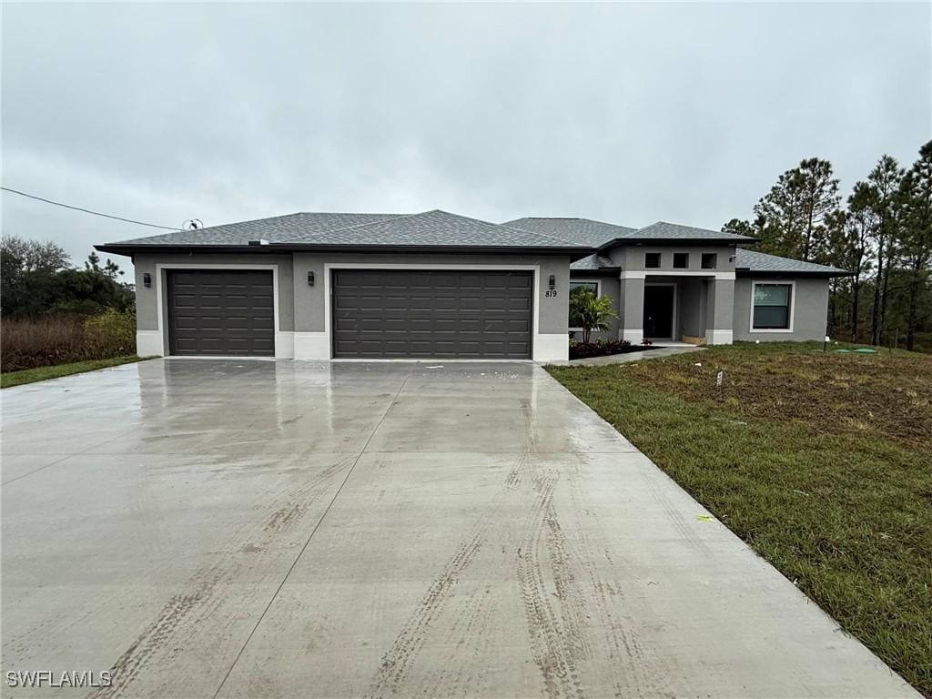
[[[444,209],[719,228],[932,138],[932,4],[3,6],[3,183],[181,226]],[[3,232],[158,233],[3,195]],[[122,258],[121,258],[122,259]]]

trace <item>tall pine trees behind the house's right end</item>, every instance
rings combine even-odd
[[[909,169],[882,156],[843,201],[831,163],[802,160],[722,231],[762,253],[841,267],[829,285],[829,335],[874,345],[932,337],[932,141]]]

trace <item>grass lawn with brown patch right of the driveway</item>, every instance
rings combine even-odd
[[[932,356],[739,344],[548,371],[932,696]]]

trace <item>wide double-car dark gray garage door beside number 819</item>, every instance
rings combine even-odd
[[[529,359],[530,272],[338,269],[335,357]]]

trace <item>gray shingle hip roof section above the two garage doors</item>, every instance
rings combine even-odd
[[[454,213],[293,213],[287,216],[178,231],[98,246],[104,252],[140,247],[239,247],[266,240],[269,247],[453,247],[556,249],[582,253],[591,245],[545,233],[480,221]]]

